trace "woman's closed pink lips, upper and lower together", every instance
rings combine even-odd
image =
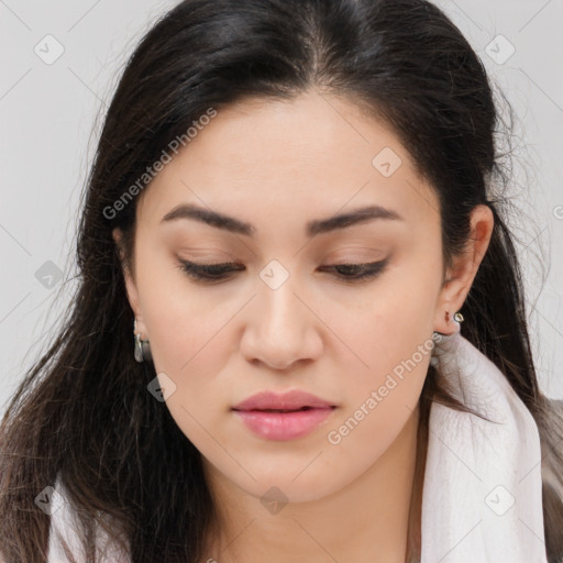
[[[272,391],[253,395],[233,410],[262,438],[294,440],[311,432],[335,408],[314,395],[295,389],[282,395]],[[272,412],[273,409],[288,412]]]

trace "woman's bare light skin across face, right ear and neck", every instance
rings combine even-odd
[[[389,177],[372,165],[384,147],[402,161]],[[187,219],[161,223],[188,202],[250,222],[255,234]],[[366,205],[404,220],[306,236],[308,221]],[[216,498],[219,518],[202,561],[405,561],[430,354],[338,444],[328,433],[434,331],[453,332],[448,312],[463,306],[494,219],[487,207],[473,211],[466,252],[442,286],[438,210],[390,129],[317,91],[221,110],[141,194],[128,297],[161,383],[166,374],[176,385],[166,405],[201,452]],[[205,285],[177,256],[244,269]],[[387,257],[378,276],[357,283],[319,269]],[[289,273],[277,289],[260,277],[274,258]],[[338,407],[302,438],[256,437],[231,411],[257,391],[292,388]],[[288,500],[275,514],[261,503],[273,486]]]

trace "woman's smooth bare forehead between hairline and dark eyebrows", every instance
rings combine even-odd
[[[317,92],[218,110],[142,192],[137,218],[156,224],[186,202],[252,223],[272,210],[303,223],[362,205],[438,220],[435,195],[398,136],[351,101]]]

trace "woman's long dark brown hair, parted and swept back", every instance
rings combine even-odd
[[[0,544],[9,563],[44,561],[49,518],[34,498],[57,476],[80,516],[89,562],[102,514],[121,523],[135,563],[203,555],[214,512],[200,453],[147,393],[154,365],[137,364],[132,353],[122,265],[131,263],[136,198],[119,210],[114,203],[210,108],[220,112],[251,96],[291,99],[311,88],[346,97],[399,135],[439,197],[445,265],[470,236],[472,209],[493,210],[462,332],[538,423],[547,551],[550,563],[563,556],[563,417],[538,386],[499,189],[508,184],[498,145],[505,123],[477,55],[426,0],[186,0],[146,33],[123,71],[88,177],[76,295],[2,421]],[[123,263],[115,227],[124,233]],[[464,409],[432,366],[420,401],[418,499],[431,402]],[[420,558],[416,529],[412,561]]]

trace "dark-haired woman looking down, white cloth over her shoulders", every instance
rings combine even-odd
[[[424,0],[158,21],[2,423],[4,561],[561,561],[498,125]]]

